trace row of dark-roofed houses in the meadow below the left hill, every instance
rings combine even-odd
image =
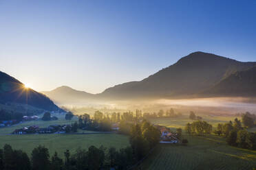
[[[14,130],[12,134],[64,134],[67,126],[70,125],[50,125],[43,128],[39,128],[38,125],[32,125]]]

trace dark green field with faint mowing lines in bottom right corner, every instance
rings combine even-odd
[[[256,151],[228,146],[218,136],[184,137],[189,140],[187,146],[160,144],[140,169],[252,170],[256,167]]]

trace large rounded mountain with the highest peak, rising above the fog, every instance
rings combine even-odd
[[[100,97],[176,97],[200,93],[228,75],[256,66],[211,53],[195,52],[140,82],[107,88]]]

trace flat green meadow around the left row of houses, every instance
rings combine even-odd
[[[97,147],[103,145],[105,147],[116,148],[129,145],[128,137],[120,134],[10,134],[17,128],[28,127],[30,125],[47,127],[48,125],[54,124],[74,123],[74,121],[77,121],[76,117],[72,121],[66,121],[64,116],[58,116],[57,121],[28,121],[10,127],[0,128],[0,147],[2,148],[3,145],[8,143],[14,149],[22,149],[30,155],[34,147],[44,145],[49,149],[51,155],[54,154],[54,151],[57,151],[63,157],[65,149],[70,149],[71,153],[74,153],[78,147],[87,149],[90,145]]]

